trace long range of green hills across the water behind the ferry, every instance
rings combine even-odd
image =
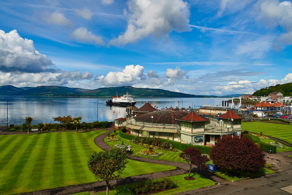
[[[163,89],[124,87],[103,87],[89,90],[82,88],[71,88],[62,86],[39,86],[39,87],[14,87],[12,85],[0,86],[0,95],[12,96],[93,96],[93,97],[112,97],[116,93],[124,95],[129,93],[135,97],[172,97],[172,98],[201,98],[211,97],[203,95],[184,94]]]

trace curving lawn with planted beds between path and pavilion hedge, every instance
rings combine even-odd
[[[129,140],[124,139],[122,137],[119,136],[119,132],[116,133],[115,137],[119,138],[118,141],[111,141],[111,142],[106,142],[106,144],[108,144],[109,146],[113,147],[113,145],[118,144],[118,143],[122,143],[122,141],[124,142],[124,144],[129,144],[132,146],[131,150],[133,152],[134,156],[139,156],[139,157],[143,157],[143,158],[151,158],[151,157],[146,157],[146,156],[140,156],[138,155],[138,153],[142,150],[148,150],[147,148],[138,146],[136,144],[131,143]],[[179,152],[171,152],[171,151],[164,151],[164,150],[154,150],[154,151],[158,151],[158,152],[162,152],[164,154],[162,154],[160,157],[158,158],[151,158],[151,159],[158,159],[158,160],[165,160],[165,161],[176,161],[176,162],[184,162],[182,160],[182,158],[179,157],[179,154],[181,151]]]

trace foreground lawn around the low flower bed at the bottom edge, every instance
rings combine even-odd
[[[178,188],[172,189],[172,190],[167,190],[164,192],[160,193],[155,193],[155,194],[173,194],[173,193],[179,193],[179,192],[184,192],[187,190],[193,190],[201,187],[206,187],[206,186],[212,186],[215,185],[216,183],[213,182],[210,179],[207,179],[203,176],[200,176],[196,173],[192,173],[191,176],[195,177],[195,180],[188,181],[185,180],[184,177],[188,176],[189,174],[184,174],[184,175],[179,175],[179,176],[171,176],[169,177],[171,180],[176,182],[178,184]],[[122,185],[122,186],[115,186],[114,190],[109,191],[109,195],[128,195],[128,194],[134,194],[129,188],[134,186],[137,183],[134,184],[127,184],[127,185]],[[101,192],[101,193],[96,193],[98,195],[105,195],[106,192]]]

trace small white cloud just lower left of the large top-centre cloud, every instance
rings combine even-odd
[[[82,43],[95,43],[97,45],[105,44],[102,37],[96,36],[91,31],[88,31],[85,27],[79,27],[75,29],[71,36],[77,41],[81,41]]]

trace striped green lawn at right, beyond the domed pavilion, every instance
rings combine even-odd
[[[267,122],[242,122],[242,130],[253,133],[262,132],[263,135],[275,137],[292,144],[292,125],[282,125]]]

